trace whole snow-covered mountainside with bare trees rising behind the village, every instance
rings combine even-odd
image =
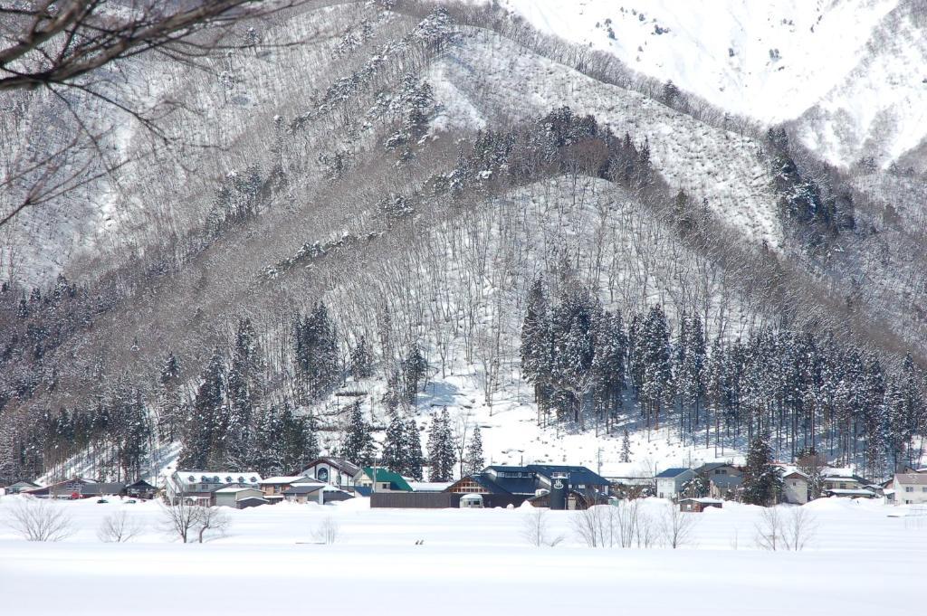
[[[37,418],[95,412],[114,392],[114,405],[143,399],[154,417],[169,353],[188,409],[213,349],[227,363],[245,317],[263,356],[262,403],[314,413],[329,450],[354,399],[382,437],[384,400],[415,345],[429,385],[402,411],[423,428],[436,409],[469,413],[488,459],[616,464],[616,428],[629,429],[636,466],[743,453],[743,423],[767,417],[771,389],[741,413],[722,409],[737,396],[716,388],[724,425],[713,434],[681,389],[668,421],[637,432],[650,421],[640,385],[615,417],[593,418],[587,405],[590,417],[542,421],[519,348],[539,278],[552,302],[590,292],[628,331],[659,306],[674,351],[692,315],[716,357],[768,345],[779,354],[768,370],[752,364],[757,378],[781,377],[768,388],[794,377],[790,362],[812,373],[801,358],[845,361],[840,383],[855,383],[864,363],[891,383],[908,349],[912,362],[927,358],[923,178],[879,169],[922,162],[923,91],[907,74],[924,55],[917,3],[437,4],[300,8],[264,24],[268,44],[210,58],[217,79],[159,57],[124,67],[141,98],[190,110],[167,124],[186,146],[165,156],[111,109],[89,107],[119,127],[114,151],[158,156],[6,230],[0,419],[11,421],[0,422],[0,467],[14,450],[18,463],[44,455],[53,473],[99,466],[107,446],[44,449],[60,434]],[[312,44],[271,44],[299,36]],[[679,104],[670,80],[691,101]],[[0,121],[0,134],[18,135],[13,154],[44,144],[39,119],[56,108],[36,96]],[[769,139],[780,123],[789,135]],[[850,169],[863,156],[879,165],[842,175],[822,164]],[[49,284],[59,272],[77,284]],[[294,322],[316,302],[337,323],[342,378],[308,399]],[[773,330],[782,337],[769,342]],[[792,355],[801,336],[813,340]],[[375,374],[355,379],[347,365],[360,340]],[[724,378],[735,382],[749,361],[730,357]],[[812,381],[800,384],[807,396]],[[130,384],[140,397],[125,394]],[[783,456],[794,456],[799,426],[820,429],[816,413],[832,421],[838,402],[814,399],[810,419],[793,409],[792,428],[779,415]],[[828,426],[829,452],[857,455],[861,444],[833,436],[844,425]],[[181,452],[173,436],[152,447],[152,467]]]

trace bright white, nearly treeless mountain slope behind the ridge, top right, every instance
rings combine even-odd
[[[927,134],[920,0],[502,0],[543,31],[610,52],[630,69],[730,113],[801,118],[835,165],[887,167]]]

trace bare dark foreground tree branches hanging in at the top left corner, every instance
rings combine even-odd
[[[62,112],[76,127],[70,139],[42,157],[0,175],[0,189],[15,195],[0,210],[0,227],[24,208],[55,200],[129,162],[105,156],[106,132],[93,128],[89,107],[81,100],[124,114],[162,144],[172,141],[161,120],[178,106],[167,101],[151,106],[125,97],[124,84],[105,74],[110,65],[159,54],[190,68],[210,70],[202,58],[253,46],[250,41],[230,40],[236,25],[311,2],[135,0],[118,10],[102,0],[0,5],[0,93],[42,88],[62,104]],[[103,170],[96,170],[96,163]]]

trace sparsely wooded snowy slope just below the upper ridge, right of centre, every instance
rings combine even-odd
[[[493,119],[525,119],[566,105],[595,116],[619,135],[629,132],[636,143],[647,140],[654,167],[672,187],[696,201],[707,199],[721,220],[756,245],[781,246],[768,164],[749,138],[717,130],[642,94],[597,82],[481,31],[460,38],[438,59],[428,79],[438,84],[438,101],[449,117],[461,106],[461,94],[468,108]]]

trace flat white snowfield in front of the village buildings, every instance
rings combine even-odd
[[[0,515],[14,497],[0,499]],[[761,509],[697,516],[692,545],[592,549],[574,512],[551,512],[557,547],[522,536],[526,509],[368,509],[277,505],[230,511],[226,536],[171,543],[155,503],[64,503],[78,532],[27,543],[0,530],[0,613],[39,614],[852,614],[918,613],[927,517],[873,502],[817,501],[801,552],[754,544]],[[665,504],[649,499],[654,516]],[[129,511],[146,533],[103,544],[96,529]],[[907,516],[905,514],[908,514]],[[312,531],[331,516],[334,545]],[[895,517],[901,516],[901,517]],[[423,540],[423,545],[415,545]],[[15,598],[14,598],[15,597]]]

